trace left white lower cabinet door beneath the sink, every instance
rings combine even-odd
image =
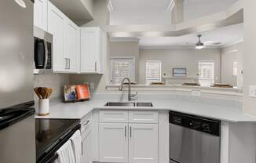
[[[100,161],[128,162],[128,125],[101,123],[99,127]]]

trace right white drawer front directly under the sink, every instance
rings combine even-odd
[[[130,110],[130,123],[158,123],[158,111],[156,110]]]

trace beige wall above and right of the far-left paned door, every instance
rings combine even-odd
[[[109,57],[134,56],[135,57],[135,82],[139,82],[139,43],[138,42],[110,42]],[[109,60],[108,60],[109,63]]]

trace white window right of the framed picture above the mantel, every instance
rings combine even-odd
[[[199,62],[199,83],[202,86],[214,84],[214,61]]]

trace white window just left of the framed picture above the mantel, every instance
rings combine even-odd
[[[161,61],[147,60],[146,61],[146,84],[152,82],[161,82]]]

